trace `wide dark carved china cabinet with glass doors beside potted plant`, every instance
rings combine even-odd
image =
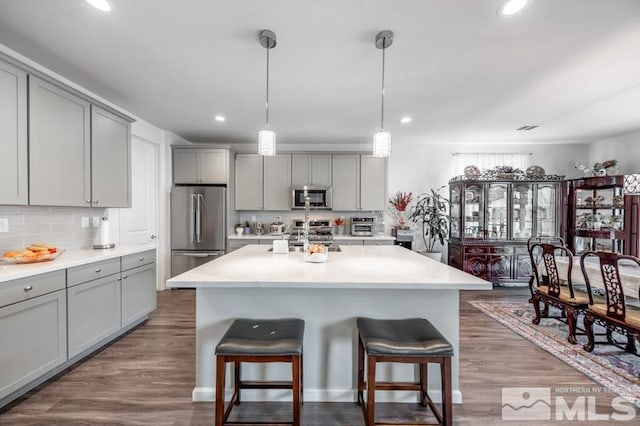
[[[528,282],[527,240],[560,232],[561,179],[452,179],[449,265],[496,284]]]

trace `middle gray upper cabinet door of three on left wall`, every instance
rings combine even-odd
[[[91,205],[89,102],[29,76],[29,203]]]

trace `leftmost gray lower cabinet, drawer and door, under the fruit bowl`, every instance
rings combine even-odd
[[[0,401],[67,361],[64,287],[64,271],[2,283]]]

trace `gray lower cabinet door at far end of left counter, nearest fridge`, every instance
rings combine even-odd
[[[156,265],[122,271],[122,327],[156,309]]]

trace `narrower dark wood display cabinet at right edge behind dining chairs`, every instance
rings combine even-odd
[[[625,195],[624,176],[595,176],[563,182],[563,231],[569,249],[637,256],[638,195]],[[635,219],[634,219],[635,218]],[[636,223],[632,223],[635,220]]]

